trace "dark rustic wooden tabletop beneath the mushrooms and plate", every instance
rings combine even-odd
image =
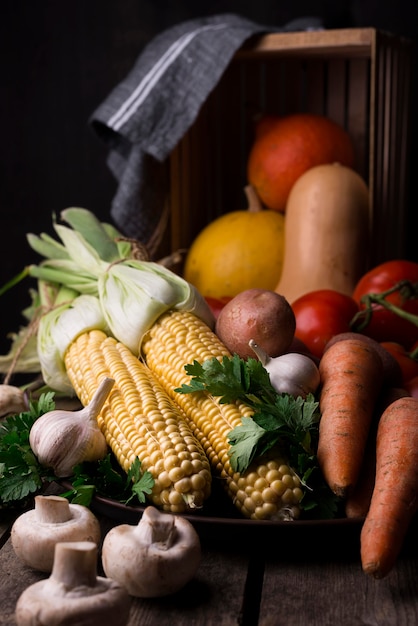
[[[96,513],[102,536],[120,520]],[[16,624],[23,590],[46,575],[16,558],[11,512],[0,511],[0,624]],[[418,623],[418,542],[411,527],[383,580],[361,571],[360,524],[196,524],[202,561],[177,594],[134,599],[129,625],[412,626]],[[98,566],[98,574],[103,575]]]

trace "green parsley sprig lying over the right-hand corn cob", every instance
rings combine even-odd
[[[316,457],[320,411],[314,395],[303,399],[278,394],[258,359],[243,360],[236,354],[221,361],[194,361],[185,371],[191,380],[178,393],[207,392],[221,404],[241,401],[254,411],[228,435],[234,471],[245,472],[254,459],[278,448],[306,487],[305,517],[308,512],[320,519],[337,515],[339,500],[326,485]]]

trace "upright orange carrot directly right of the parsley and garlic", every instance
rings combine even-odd
[[[319,363],[318,463],[330,489],[341,497],[359,477],[382,368],[377,352],[355,338],[332,345]]]

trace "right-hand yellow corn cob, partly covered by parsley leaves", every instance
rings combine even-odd
[[[213,357],[231,356],[210,328],[195,315],[170,311],[153,324],[142,342],[143,357],[167,393],[189,419],[210,460],[213,474],[223,481],[227,493],[244,517],[295,519],[303,496],[301,483],[285,459],[270,454],[253,462],[243,473],[234,472],[228,451],[228,433],[252,411],[242,403],[220,404],[206,392],[179,394],[177,387],[190,378],[184,366]]]

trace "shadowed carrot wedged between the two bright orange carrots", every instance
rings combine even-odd
[[[380,416],[392,402],[408,395],[405,389],[398,387],[384,388],[379,395],[367,438],[360,475],[345,501],[345,514],[348,518],[364,519],[370,507],[376,477],[376,437]]]

